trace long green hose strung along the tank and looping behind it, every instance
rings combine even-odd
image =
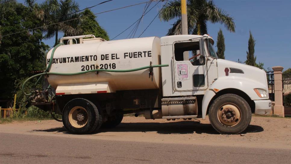
[[[143,69],[148,69],[148,68],[155,68],[155,67],[168,67],[169,65],[168,64],[162,64],[162,65],[151,65],[151,66],[145,66],[145,67],[140,67],[140,68],[134,68],[134,69],[127,69],[127,70],[108,70],[108,69],[94,69],[94,70],[89,70],[89,71],[83,71],[83,72],[77,72],[77,73],[57,73],[57,72],[47,72],[49,71],[49,68],[51,67],[52,65],[52,60],[53,60],[53,57],[54,57],[54,53],[55,53],[55,49],[57,49],[59,46],[61,45],[64,45],[63,43],[60,43],[58,44],[57,46],[54,47],[54,49],[52,50],[52,55],[51,55],[51,59],[49,61],[49,65],[48,67],[45,69],[45,72],[43,73],[40,73],[40,74],[36,74],[36,75],[33,75],[29,78],[27,78],[23,84],[21,85],[21,90],[22,90],[22,93],[25,95],[25,96],[30,96],[32,93],[25,93],[24,92],[24,87],[25,87],[25,84],[30,80],[30,79],[33,79],[34,77],[39,77],[39,79],[36,81],[36,83],[34,84],[35,86],[39,83],[40,79],[46,75],[46,74],[56,74],[56,75],[77,75],[77,74],[86,74],[86,73],[90,73],[90,72],[95,72],[95,71],[98,71],[98,72],[133,72],[133,71],[139,71],[139,70],[143,70]]]

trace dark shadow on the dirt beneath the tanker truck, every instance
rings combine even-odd
[[[32,131],[42,132],[56,132],[70,134],[64,127],[50,128],[50,129],[35,129]],[[158,134],[219,134],[212,128],[211,124],[201,124],[197,121],[180,121],[180,122],[134,122],[134,123],[120,123],[115,128],[100,128],[97,133],[106,132],[152,132],[156,131]],[[249,125],[243,132],[258,133],[264,131],[264,128],[258,125]],[[97,134],[94,133],[94,134]]]

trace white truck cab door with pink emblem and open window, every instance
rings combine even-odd
[[[174,90],[178,92],[206,90],[207,66],[202,39],[175,42],[173,44]],[[184,52],[189,58],[184,59]]]

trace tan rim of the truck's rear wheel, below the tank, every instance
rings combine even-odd
[[[82,106],[75,106],[69,112],[69,122],[74,128],[82,128],[88,122],[88,112]]]

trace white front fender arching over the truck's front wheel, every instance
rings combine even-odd
[[[268,99],[268,98],[260,98],[254,91],[255,88],[261,88],[266,91],[268,89],[265,87],[266,85],[260,83],[256,80],[247,79],[243,77],[220,77],[218,80],[214,81],[214,83],[208,88],[205,92],[203,99],[202,99],[202,119],[204,120],[206,117],[206,112],[208,109],[208,105],[211,99],[218,93],[220,90],[228,89],[228,88],[235,88],[238,90],[243,91],[246,93],[250,99],[252,100],[261,100],[261,99]],[[215,90],[218,90],[215,92]]]

